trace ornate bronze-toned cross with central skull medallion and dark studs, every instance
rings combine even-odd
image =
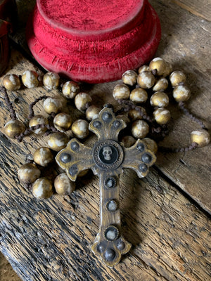
[[[120,229],[120,174],[123,168],[130,168],[143,178],[156,159],[153,152],[146,149],[143,141],[136,141],[131,148],[124,148],[118,143],[118,134],[125,126],[122,119],[115,117],[111,108],[104,107],[98,118],[89,124],[89,130],[98,136],[94,147],[89,148],[79,143],[77,138],[72,138],[67,147],[56,156],[56,162],[65,169],[72,181],[85,169],[92,169],[99,177],[100,228],[91,250],[100,255],[110,268],[119,263],[122,254],[126,254],[131,248]]]

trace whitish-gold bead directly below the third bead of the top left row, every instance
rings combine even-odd
[[[44,110],[48,114],[60,112],[65,105],[63,98],[46,98],[43,103]]]

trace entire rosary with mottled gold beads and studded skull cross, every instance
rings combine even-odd
[[[24,72],[21,80],[27,88],[37,87],[40,83],[39,75],[31,70]],[[46,90],[60,89],[63,96],[36,98],[29,106],[29,124],[26,127],[17,119],[8,96],[9,91],[20,89],[20,77],[7,74],[2,79],[0,91],[11,114],[11,120],[4,127],[6,136],[18,142],[30,133],[45,134],[49,138],[48,146],[34,151],[33,159],[20,167],[18,178],[26,188],[32,190],[34,197],[44,199],[51,197],[53,192],[70,195],[75,190],[77,177],[84,176],[89,169],[98,175],[100,226],[91,250],[113,268],[131,248],[121,232],[119,178],[123,169],[133,169],[143,178],[155,163],[157,150],[188,152],[208,145],[210,134],[203,122],[185,106],[191,96],[185,84],[185,74],[173,72],[170,63],[162,58],[154,58],[149,65],[141,66],[138,72],[127,70],[122,74],[122,84],[117,84],[113,89],[113,98],[120,105],[117,110],[110,104],[104,105],[103,109],[91,105],[91,96],[81,92],[79,84],[66,81],[61,86],[56,73],[47,72],[42,82]],[[191,143],[186,147],[159,146],[159,141],[168,133],[167,123],[171,114],[166,107],[170,95],[179,110],[200,126],[200,129],[191,132]],[[77,119],[72,123],[70,112],[63,112],[67,100],[71,99],[74,99],[77,110],[84,112],[87,120]],[[49,118],[34,115],[34,106],[41,100],[44,100],[44,111]],[[75,136],[71,140],[66,133],[70,129]],[[98,138],[92,147],[79,141],[87,138],[89,131]],[[63,170],[63,173],[53,178],[45,176],[45,169],[52,162],[56,162]]]

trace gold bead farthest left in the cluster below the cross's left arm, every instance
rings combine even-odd
[[[22,183],[30,184],[34,183],[34,181],[39,178],[40,174],[41,173],[36,165],[32,163],[27,163],[21,166],[18,170],[18,179]]]

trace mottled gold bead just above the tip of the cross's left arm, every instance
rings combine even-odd
[[[51,150],[60,151],[68,144],[68,136],[65,133],[56,132],[49,136],[48,145]]]

